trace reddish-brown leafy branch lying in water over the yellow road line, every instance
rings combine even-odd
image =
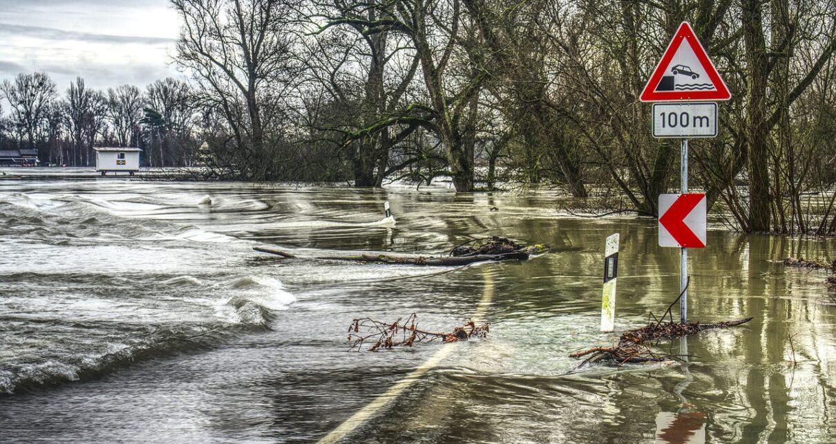
[[[467,321],[461,327],[456,327],[451,333],[432,332],[418,328],[418,316],[410,314],[403,322],[399,318],[387,324],[371,318],[354,319],[349,325],[349,342],[351,350],[360,351],[363,344],[375,342],[369,351],[391,349],[393,347],[411,347],[417,342],[432,342],[441,339],[443,342],[456,342],[471,338],[487,337],[490,324],[477,326],[473,320]]]

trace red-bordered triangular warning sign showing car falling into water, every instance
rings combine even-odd
[[[688,22],[682,22],[645,89],[643,102],[729,100],[732,94],[720,78],[706,49]]]

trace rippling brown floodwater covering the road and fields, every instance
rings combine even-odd
[[[385,200],[395,227],[375,224]],[[549,192],[0,181],[0,441],[836,441],[834,293],[779,263],[836,242],[710,229],[690,320],[752,322],[658,345],[689,365],[576,370],[568,354],[618,335],[598,331],[604,238],[621,235],[617,329],[675,299],[678,253],[652,220],[558,207]],[[252,251],[444,253],[491,234],[554,250],[432,269]],[[347,351],[352,319],[411,313],[491,332]]]

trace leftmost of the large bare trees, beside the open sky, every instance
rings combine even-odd
[[[183,21],[177,62],[201,84],[202,103],[220,111],[247,176],[264,180],[277,159],[268,132],[282,123],[292,83],[288,0],[172,0]]]

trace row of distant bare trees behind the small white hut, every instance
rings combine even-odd
[[[92,166],[94,146],[139,146],[144,166],[188,166],[200,143],[181,80],[97,91],[79,78],[59,94],[47,74],[22,73],[0,84],[0,96],[10,108],[0,119],[0,150],[37,150],[41,165]]]

